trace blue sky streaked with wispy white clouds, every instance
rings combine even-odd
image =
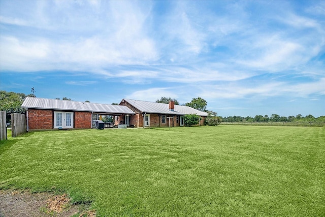
[[[325,115],[325,1],[0,1],[0,89]]]

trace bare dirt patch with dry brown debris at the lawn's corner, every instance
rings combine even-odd
[[[0,190],[0,217],[11,216],[79,216],[94,217],[95,210],[74,205],[67,194],[30,193],[28,191]]]

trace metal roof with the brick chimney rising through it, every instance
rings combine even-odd
[[[123,100],[125,100],[127,103],[131,104],[135,108],[139,109],[140,111],[147,112],[147,113],[171,114],[171,115],[197,114],[200,116],[208,116],[207,112],[199,111],[189,106],[175,105],[174,111],[170,111],[169,104],[166,103],[155,103],[155,102],[131,100],[131,99],[123,99]]]

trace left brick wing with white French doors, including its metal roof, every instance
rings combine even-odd
[[[100,115],[133,115],[126,106],[27,97],[27,131],[40,129],[89,129]]]

